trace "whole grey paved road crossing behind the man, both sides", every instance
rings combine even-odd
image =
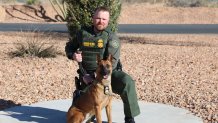
[[[66,33],[66,24],[0,23],[0,31],[48,31]],[[120,24],[118,33],[218,34],[218,24]]]

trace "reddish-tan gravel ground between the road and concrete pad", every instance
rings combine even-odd
[[[63,55],[7,55],[16,43],[33,37],[54,44]],[[124,71],[136,81],[139,100],[186,108],[205,123],[218,123],[217,35],[120,37]],[[67,35],[0,33],[0,41],[0,110],[72,97],[78,66],[64,55]]]

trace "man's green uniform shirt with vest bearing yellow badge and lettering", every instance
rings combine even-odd
[[[120,57],[120,40],[109,28],[99,33],[95,33],[93,27],[82,28],[78,32],[76,40],[67,42],[65,47],[67,57],[72,59],[78,49],[82,51],[84,69],[96,69],[97,53],[100,53],[102,58],[112,54],[113,69],[115,69]]]

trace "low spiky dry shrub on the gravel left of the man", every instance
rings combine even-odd
[[[9,56],[54,58],[62,54],[56,46],[47,43],[50,40],[49,34],[46,34],[47,38],[42,38],[42,34],[38,32],[30,34],[33,36],[27,36],[24,41],[15,44],[15,50],[9,52]]]

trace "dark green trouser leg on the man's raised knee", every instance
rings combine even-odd
[[[136,95],[135,82],[123,71],[113,71],[111,79],[112,91],[121,96],[126,117],[135,117],[140,114]]]

